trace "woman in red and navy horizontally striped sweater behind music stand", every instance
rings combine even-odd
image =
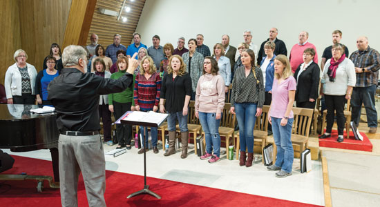
[[[151,57],[145,56],[142,58],[140,71],[136,75],[135,89],[133,93],[135,110],[153,110],[154,112],[158,110],[158,103],[160,103],[161,78],[156,70]],[[142,154],[144,153],[144,150],[148,150],[148,128],[140,126],[140,130],[146,138],[144,147],[138,152],[139,154]],[[155,154],[158,153],[157,136],[157,127],[151,127],[152,146]]]

